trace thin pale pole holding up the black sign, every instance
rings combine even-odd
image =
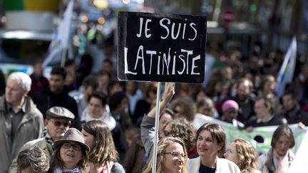
[[[154,145],[153,145],[153,167],[152,173],[156,173],[156,159],[157,159],[157,147],[158,147],[158,125],[160,115],[160,85],[158,82],[158,90],[156,93],[156,112],[155,112],[155,131],[154,131]]]

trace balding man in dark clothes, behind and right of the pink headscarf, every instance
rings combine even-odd
[[[244,125],[248,120],[254,115],[254,105],[255,105],[255,94],[252,93],[253,84],[247,78],[242,78],[237,82],[237,93],[234,98],[239,105],[237,120],[242,122]]]

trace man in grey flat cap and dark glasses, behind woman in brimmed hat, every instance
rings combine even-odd
[[[34,146],[38,146],[43,149],[49,157],[53,153],[53,142],[55,140],[60,140],[69,126],[71,125],[71,120],[75,116],[71,111],[63,107],[53,107],[47,110],[46,120],[45,120],[45,129],[43,131],[43,137],[37,140],[32,140],[27,142],[21,150],[26,150]],[[16,172],[17,164],[16,159],[11,164],[9,172]]]

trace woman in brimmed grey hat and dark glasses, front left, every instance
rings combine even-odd
[[[50,173],[85,172],[90,147],[86,145],[81,132],[70,128],[61,140],[54,142],[55,150],[51,156]]]

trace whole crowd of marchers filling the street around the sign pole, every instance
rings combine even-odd
[[[158,83],[116,80],[111,58],[95,73],[68,61],[66,67],[54,66],[47,79],[36,62],[31,75],[7,76],[0,88],[0,173],[148,173],[153,154],[157,172],[165,173],[267,173],[292,167],[297,141],[288,125],[308,125],[307,64],[297,68],[282,98],[274,93],[282,62],[278,53],[277,61],[268,61],[233,50],[222,58],[222,67],[212,69],[207,85],[166,83],[153,153]],[[227,146],[220,125],[197,125],[202,117],[245,132],[277,129],[270,150],[259,153],[254,139],[237,137]]]

